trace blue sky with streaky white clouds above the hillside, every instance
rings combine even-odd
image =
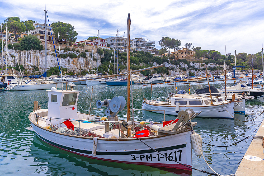
[[[97,35],[102,38],[127,36],[127,17],[131,17],[131,39],[143,37],[155,41],[163,36],[201,46],[202,50],[217,50],[221,54],[255,54],[264,38],[264,2],[243,0],[201,1],[30,1],[0,0],[0,22],[18,16],[22,21],[44,23],[48,10],[50,23],[70,23],[78,32],[78,41]],[[124,34],[125,32],[125,34]]]

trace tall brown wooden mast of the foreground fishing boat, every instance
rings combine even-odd
[[[128,43],[130,43],[130,14],[128,14]],[[130,120],[130,79],[131,79],[131,72],[130,72],[130,45],[128,50],[128,121]],[[131,136],[130,128],[127,131],[127,136]]]

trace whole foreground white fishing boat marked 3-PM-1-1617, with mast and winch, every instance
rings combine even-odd
[[[130,15],[128,14],[128,41],[130,39],[129,29]],[[130,71],[130,53],[128,52],[128,72],[111,76],[128,74],[128,80],[131,80],[130,75],[134,72],[160,66],[164,64]],[[92,79],[96,78],[88,78],[88,80]],[[179,112],[182,116],[176,123],[158,128],[153,136],[149,136],[149,130],[138,131],[133,135],[130,131],[135,125],[134,119],[130,119],[131,81],[128,82],[128,121],[120,121],[117,116],[126,104],[122,96],[103,101],[97,100],[98,108],[106,107],[107,118],[78,113],[77,102],[80,91],[73,90],[74,84],[69,85],[70,90],[66,91],[56,88],[48,90],[48,109],[35,108],[30,113],[29,121],[32,127],[28,129],[34,131],[41,140],[56,148],[92,159],[147,165],[172,173],[178,173],[180,169],[183,173],[191,174],[192,132],[186,125],[196,125],[197,123],[191,120],[201,112],[194,113],[192,110]],[[37,107],[37,102],[34,104],[36,105],[34,107]],[[94,123],[95,121],[97,123]],[[98,121],[101,123],[98,124]],[[112,126],[110,123],[118,124],[117,129],[110,131],[109,128]],[[146,127],[154,129],[153,126],[147,125]]]

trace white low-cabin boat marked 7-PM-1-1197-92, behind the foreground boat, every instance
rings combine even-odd
[[[212,103],[208,98],[185,93],[172,95],[167,101],[143,99],[143,109],[157,113],[178,115],[179,111],[186,108],[191,108],[195,113],[202,111],[198,117],[234,118],[234,102],[225,101],[224,97],[213,98]]]

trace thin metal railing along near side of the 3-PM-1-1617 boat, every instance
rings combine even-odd
[[[38,119],[37,117],[39,118],[43,118],[43,117],[40,117],[37,115],[37,113],[35,114],[36,115],[36,122],[37,122],[37,125],[39,125],[39,122],[38,122]],[[49,120],[50,121],[50,127],[51,127],[51,130],[52,130],[52,123],[51,123],[51,119],[59,119],[59,120],[70,120],[70,121],[78,121],[79,122],[79,136],[81,136],[81,122],[105,122],[105,123],[117,123],[118,124],[118,129],[119,129],[119,138],[121,138],[121,134],[120,134],[120,131],[121,131],[121,123],[119,121],[97,121],[97,120],[78,120],[78,119],[68,119],[68,118],[56,118],[56,117],[50,117],[50,119],[46,119],[46,118],[43,118],[45,120]],[[61,123],[59,123],[61,124]],[[57,125],[59,125],[57,124]],[[54,125],[54,126],[57,126],[57,125]]]

